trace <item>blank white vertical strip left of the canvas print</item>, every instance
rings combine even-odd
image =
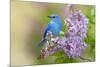
[[[9,0],[0,1],[0,67],[7,67],[10,59],[9,6]]]

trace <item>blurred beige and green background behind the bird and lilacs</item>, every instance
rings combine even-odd
[[[95,6],[74,5],[89,19],[87,38],[88,44],[82,56],[95,61]],[[79,58],[61,57],[63,52],[56,52],[46,59],[38,60],[34,46],[42,38],[45,26],[50,19],[48,15],[56,13],[61,17],[64,31],[64,19],[70,10],[68,4],[11,1],[11,65],[32,65],[52,63],[84,62]]]

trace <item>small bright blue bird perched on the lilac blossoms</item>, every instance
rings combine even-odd
[[[42,40],[37,45],[38,47],[43,46],[44,43],[47,41],[46,36],[47,36],[48,32],[52,32],[53,36],[57,36],[57,35],[59,35],[60,30],[62,28],[62,23],[61,23],[60,17],[58,15],[52,14],[48,17],[50,18],[51,21],[45,28]]]

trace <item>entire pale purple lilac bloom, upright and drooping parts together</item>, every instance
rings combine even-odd
[[[81,52],[87,47],[83,38],[86,37],[88,19],[81,10],[71,13],[69,18],[65,19],[65,25],[68,28],[65,31],[65,36],[51,38],[51,42],[54,45],[48,45],[42,49],[42,57],[47,57],[59,49],[62,49],[68,57],[79,57]]]

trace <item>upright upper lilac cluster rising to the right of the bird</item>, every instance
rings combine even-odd
[[[76,10],[71,13],[69,18],[65,20],[70,36],[79,35],[81,38],[86,37],[88,19],[84,16],[81,10]]]

